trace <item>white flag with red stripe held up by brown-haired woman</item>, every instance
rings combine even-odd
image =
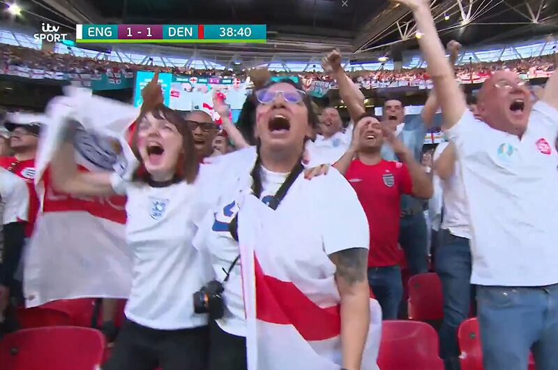
[[[130,177],[137,161],[123,133],[139,110],[92,96],[86,89],[65,89],[46,114],[36,160],[41,209],[24,258],[27,306],[79,297],[127,298],[132,254],[126,246],[126,198],[78,197],[54,191],[48,165],[69,120],[81,124],[75,137],[80,170],[118,170]],[[115,152],[114,140],[123,147]]]

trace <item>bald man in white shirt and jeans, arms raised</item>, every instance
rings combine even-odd
[[[558,74],[541,100],[498,71],[478,94],[476,119],[453,77],[430,3],[411,8],[418,40],[455,145],[469,206],[485,370],[558,369]]]

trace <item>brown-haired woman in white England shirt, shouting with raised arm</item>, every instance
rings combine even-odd
[[[188,123],[163,105],[157,75],[142,91],[144,104],[130,145],[140,170],[132,181],[117,172],[78,171],[71,127],[51,163],[58,191],[127,196],[133,283],[126,322],[105,370],[202,370],[206,365],[207,317],[193,307],[193,293],[211,276],[192,245],[199,163]]]

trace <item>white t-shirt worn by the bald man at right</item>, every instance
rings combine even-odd
[[[490,128],[468,110],[447,131],[469,205],[472,283],[558,283],[557,133],[558,111],[542,101],[522,138]]]

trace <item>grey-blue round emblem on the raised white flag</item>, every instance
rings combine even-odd
[[[112,170],[116,163],[117,154],[110,142],[111,139],[86,131],[80,125],[76,129],[74,147],[89,163],[103,170]]]

